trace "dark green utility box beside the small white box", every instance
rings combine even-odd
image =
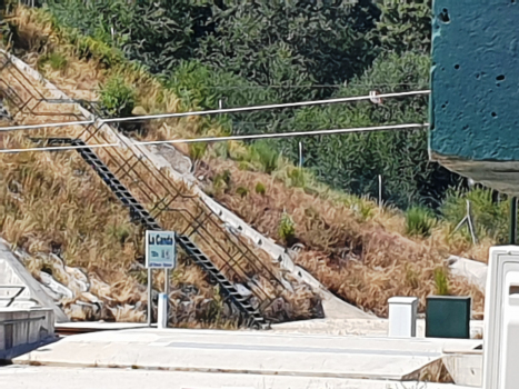
[[[470,297],[428,297],[426,338],[470,339]]]

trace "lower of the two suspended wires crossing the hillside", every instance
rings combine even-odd
[[[316,131],[296,131],[296,132],[278,132],[278,133],[258,133],[258,134],[243,134],[243,136],[229,136],[229,137],[204,137],[204,138],[190,138],[190,139],[172,139],[172,140],[151,140],[151,141],[133,141],[129,146],[153,146],[153,144],[174,144],[174,143],[214,143],[230,140],[256,140],[256,139],[279,139],[279,138],[295,138],[295,137],[317,137],[317,136],[331,136],[345,134],[356,132],[372,132],[372,131],[388,131],[388,130],[416,130],[428,128],[429,123],[407,123],[407,124],[392,124],[392,126],[377,126],[377,127],[360,127],[349,129],[332,129],[332,130],[316,130]],[[90,148],[109,148],[122,147],[119,143],[103,143],[92,146],[66,146],[66,147],[37,147],[29,149],[3,149],[0,153],[20,153],[29,151],[67,151],[77,149]]]

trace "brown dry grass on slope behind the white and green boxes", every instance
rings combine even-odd
[[[440,268],[448,273],[445,269],[448,255],[467,252],[458,238],[449,246],[441,228],[428,239],[403,237],[398,231],[403,228],[403,218],[395,211],[385,215],[373,205],[371,216],[366,218],[345,201],[289,188],[279,179],[240,170],[230,161],[210,159],[209,166],[210,170],[203,172],[208,186],[218,173],[230,172],[230,188],[211,189],[218,201],[279,242],[282,239],[278,226],[283,211],[288,212],[295,221],[295,242],[305,247],[295,255],[296,262],[336,295],[378,316],[387,316],[387,300],[392,296],[417,296],[423,311],[426,297],[438,292],[435,270]],[[260,182],[266,188],[265,194],[254,191]],[[236,192],[241,187],[249,189],[244,199]],[[386,220],[390,221],[389,228],[385,226]],[[476,287],[450,277],[449,291],[455,296],[471,296],[473,310],[482,311],[483,295]]]

